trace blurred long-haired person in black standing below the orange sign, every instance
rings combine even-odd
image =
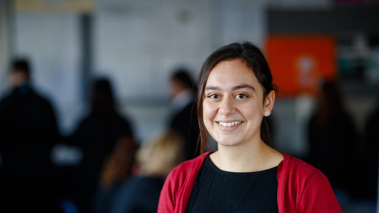
[[[356,139],[354,123],[345,109],[337,84],[324,82],[309,123],[309,163],[328,177],[334,190],[352,190],[353,174],[349,168],[356,165],[352,161]]]

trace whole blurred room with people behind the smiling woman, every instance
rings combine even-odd
[[[375,212],[378,20],[377,0],[0,0],[0,208],[155,204],[133,189],[154,194],[166,173],[138,153],[196,156],[200,66],[248,40],[280,87],[271,146],[326,174],[344,212]]]

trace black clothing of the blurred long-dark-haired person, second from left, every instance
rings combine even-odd
[[[132,136],[130,123],[116,110],[92,110],[71,135],[68,143],[83,151],[83,160],[78,167],[75,194],[80,212],[90,212],[92,196],[99,183],[99,175],[106,158],[115,144],[124,136]]]

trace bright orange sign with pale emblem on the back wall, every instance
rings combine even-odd
[[[335,52],[331,36],[269,36],[266,54],[279,95],[314,95],[322,80],[334,80]]]

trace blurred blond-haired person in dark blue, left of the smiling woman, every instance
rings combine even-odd
[[[184,160],[182,137],[168,131],[152,138],[136,154],[138,169],[119,190],[111,213],[156,213],[164,179]]]

